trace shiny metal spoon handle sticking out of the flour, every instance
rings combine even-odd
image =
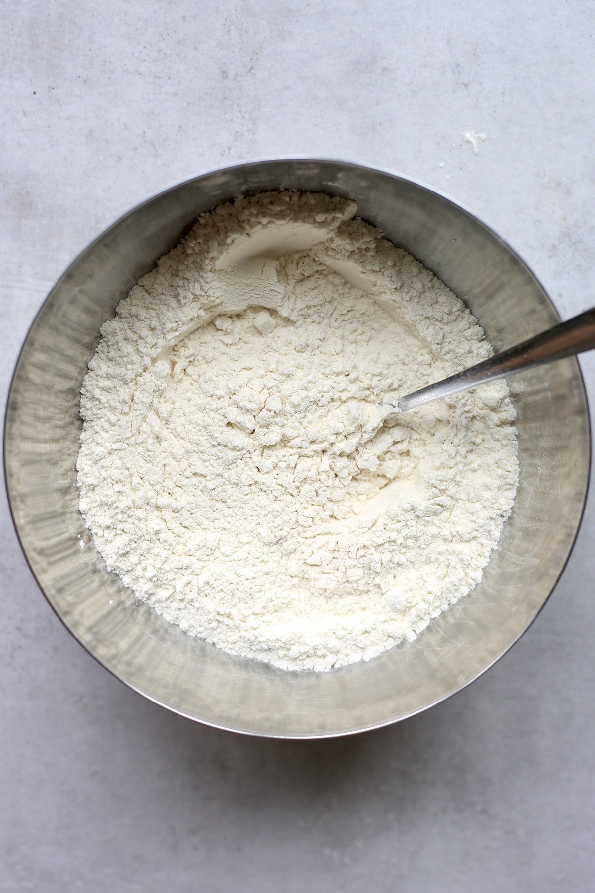
[[[393,406],[397,413],[404,413],[432,400],[475,388],[486,381],[501,379],[504,375],[526,369],[528,366],[551,363],[552,360],[561,360],[565,356],[581,354],[584,350],[593,348],[595,348],[595,307],[579,313],[572,320],[560,322],[559,325],[523,341],[522,344],[508,347],[508,350],[501,351],[489,360],[483,360],[483,363],[477,363],[476,366],[457,372],[448,379],[436,381],[433,385],[384,405]]]

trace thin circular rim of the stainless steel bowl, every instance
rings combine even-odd
[[[46,294],[44,300],[42,301],[41,305],[39,305],[37,312],[35,313],[32,321],[29,324],[29,328],[27,330],[25,337],[23,338],[21,348],[19,350],[16,362],[14,363],[14,367],[12,369],[10,386],[8,388],[7,395],[6,395],[6,403],[5,403],[5,408],[4,408],[4,426],[3,426],[4,427],[4,430],[3,430],[4,489],[6,492],[8,506],[9,506],[9,510],[11,513],[12,525],[14,527],[19,545],[21,547],[21,552],[25,558],[25,561],[29,567],[29,571],[31,572],[31,574],[33,576],[33,579],[37,583],[37,587],[41,590],[42,595],[45,597],[45,601],[51,607],[52,611],[58,617],[58,619],[62,622],[62,625],[66,628],[66,630],[68,630],[70,632],[70,635],[76,639],[76,641],[79,643],[79,645],[85,649],[87,654],[91,655],[91,657],[93,657],[95,659],[95,661],[97,663],[99,663],[103,667],[103,669],[107,670],[107,672],[109,672],[115,679],[119,680],[124,685],[126,685],[129,689],[132,689],[133,691],[137,692],[139,695],[142,695],[147,700],[152,701],[153,704],[164,707],[170,713],[178,714],[178,716],[183,716],[184,718],[186,718],[188,720],[192,720],[193,722],[200,722],[202,725],[209,726],[212,729],[232,731],[232,732],[236,732],[236,734],[248,735],[248,736],[255,737],[255,738],[271,738],[271,739],[280,739],[280,740],[318,740],[318,739],[343,738],[348,735],[358,735],[364,731],[373,731],[376,729],[384,729],[386,726],[393,725],[396,722],[403,722],[407,719],[412,718],[413,716],[417,716],[418,714],[425,713],[427,710],[432,709],[432,707],[434,707],[438,704],[442,704],[446,700],[449,700],[450,697],[454,697],[454,695],[457,695],[463,689],[467,689],[467,687],[470,686],[473,682],[475,682],[475,680],[479,679],[481,676],[483,676],[483,674],[485,672],[490,670],[492,668],[492,666],[494,666],[495,663],[498,663],[501,660],[501,658],[504,657],[504,655],[508,654],[508,652],[516,645],[516,643],[525,635],[525,632],[527,630],[529,630],[531,628],[531,626],[533,626],[533,622],[535,622],[535,620],[540,615],[540,613],[543,610],[543,608],[545,607],[545,605],[550,600],[550,597],[552,596],[555,588],[557,588],[557,586],[558,586],[558,582],[559,582],[560,578],[562,577],[562,574],[566,570],[566,565],[567,565],[568,561],[570,560],[570,556],[573,553],[576,539],[578,537],[579,531],[581,530],[581,527],[583,524],[584,513],[585,513],[585,508],[586,508],[586,503],[587,503],[587,497],[589,494],[589,488],[590,488],[590,483],[591,483],[591,463],[592,463],[592,449],[593,449],[592,435],[591,435],[591,408],[589,405],[587,389],[585,388],[585,384],[584,384],[583,370],[581,368],[581,364],[579,363],[578,356],[575,355],[574,357],[572,357],[572,359],[574,360],[574,365],[575,365],[576,371],[578,373],[578,380],[580,382],[581,387],[583,388],[583,397],[584,397],[587,432],[588,432],[587,462],[586,462],[587,474],[586,474],[586,481],[585,481],[585,487],[584,487],[584,492],[583,492],[583,502],[581,505],[578,522],[576,524],[576,530],[574,531],[574,536],[573,536],[572,541],[570,542],[570,545],[568,547],[568,552],[567,552],[566,558],[564,560],[564,563],[562,564],[562,566],[560,568],[560,571],[558,573],[556,580],[554,580],[554,582],[550,588],[550,592],[543,599],[541,606],[539,607],[537,612],[534,614],[531,621],[527,623],[527,625],[525,626],[525,629],[521,630],[521,632],[516,636],[516,638],[512,642],[510,642],[508,647],[506,647],[500,653],[500,655],[497,655],[496,657],[494,657],[494,659],[490,663],[486,664],[483,667],[483,669],[481,671],[477,672],[472,679],[467,680],[467,682],[464,682],[462,685],[459,686],[459,688],[457,688],[453,691],[450,691],[450,692],[446,693],[445,695],[442,695],[442,697],[437,698],[431,705],[426,705],[426,706],[420,707],[419,709],[407,714],[407,716],[402,716],[398,719],[388,719],[384,722],[375,722],[370,725],[364,726],[360,729],[352,729],[352,730],[345,730],[345,731],[330,731],[330,732],[313,733],[313,734],[292,734],[292,733],[279,734],[279,733],[270,733],[270,732],[265,732],[265,731],[238,729],[234,726],[226,725],[225,723],[211,722],[209,720],[205,720],[202,718],[195,717],[191,714],[187,714],[183,710],[179,710],[176,707],[173,707],[169,704],[166,704],[164,701],[159,700],[159,698],[153,697],[152,695],[148,694],[144,690],[136,687],[134,684],[132,684],[128,680],[122,679],[118,675],[117,672],[112,670],[112,668],[110,666],[108,666],[106,663],[104,663],[103,660],[99,657],[99,655],[96,655],[93,652],[93,650],[91,650],[91,648],[88,647],[85,642],[81,641],[81,639],[76,635],[76,633],[72,629],[70,629],[68,622],[66,622],[65,618],[58,611],[58,609],[53,604],[51,598],[45,592],[45,588],[42,586],[40,580],[37,578],[37,573],[35,572],[34,567],[31,563],[31,561],[29,560],[29,555],[28,555],[27,550],[24,546],[24,543],[21,539],[21,532],[19,530],[19,526],[18,526],[18,523],[16,520],[16,510],[12,503],[11,488],[9,485],[8,461],[7,461],[7,455],[6,455],[7,454],[7,444],[8,444],[8,440],[9,440],[8,415],[11,411],[12,392],[15,387],[17,373],[19,371],[19,367],[21,364],[21,358],[22,358],[22,355],[25,352],[25,348],[29,342],[29,337],[37,324],[37,320],[44,311],[45,305],[48,303],[50,298],[54,295],[54,291],[56,291],[58,288],[60,288],[60,286],[62,285],[62,281],[70,273],[70,270],[73,267],[75,267],[80,261],[82,261],[88,252],[92,251],[95,248],[95,246],[99,242],[101,242],[101,240],[103,238],[105,238],[105,236],[107,236],[110,232],[112,232],[112,230],[115,230],[118,226],[120,226],[120,224],[123,221],[125,221],[129,216],[136,213],[138,210],[140,210],[140,208],[145,207],[145,205],[151,204],[153,201],[160,198],[161,196],[165,196],[167,193],[171,192],[173,189],[184,187],[186,185],[189,185],[190,183],[194,183],[197,180],[211,177],[213,174],[217,174],[217,173],[220,173],[223,171],[230,171],[235,168],[252,167],[252,166],[258,166],[260,164],[279,163],[279,162],[289,162],[289,163],[291,163],[291,162],[310,162],[310,163],[315,163],[315,164],[316,163],[325,163],[325,164],[336,163],[336,164],[346,165],[348,167],[359,168],[360,170],[364,170],[364,171],[375,171],[375,172],[384,173],[384,174],[389,175],[390,177],[393,177],[395,179],[404,180],[405,182],[411,183],[414,186],[425,189],[428,192],[434,193],[434,195],[441,197],[448,204],[451,204],[454,207],[467,213],[475,221],[480,223],[481,226],[483,227],[483,229],[487,230],[487,232],[490,235],[492,235],[493,238],[495,238],[497,241],[499,241],[501,245],[505,246],[508,249],[508,251],[510,252],[510,254],[515,258],[516,262],[520,264],[520,266],[529,274],[529,276],[533,280],[535,280],[535,282],[537,283],[539,288],[541,288],[541,291],[543,292],[544,296],[546,296],[548,299],[548,302],[550,304],[550,307],[551,307],[553,313],[555,313],[556,316],[558,317],[558,321],[561,319],[561,317],[558,313],[557,306],[551,300],[549,292],[547,291],[546,288],[544,288],[544,286],[541,283],[541,280],[535,275],[535,273],[528,266],[528,264],[525,263],[523,258],[520,257],[520,255],[518,255],[516,253],[515,248],[513,248],[508,243],[508,240],[503,238],[502,236],[500,236],[500,233],[497,230],[494,230],[489,223],[486,223],[483,220],[482,217],[479,217],[475,212],[471,211],[467,207],[466,204],[463,204],[463,203],[457,201],[452,196],[443,192],[441,189],[437,189],[437,188],[434,188],[434,186],[430,186],[423,180],[410,177],[409,174],[403,174],[400,171],[394,171],[391,168],[385,168],[385,167],[382,167],[377,164],[366,164],[366,163],[353,162],[350,160],[337,158],[335,156],[313,157],[309,154],[287,154],[287,155],[278,155],[276,157],[256,157],[256,158],[250,158],[247,160],[238,161],[233,164],[227,164],[224,166],[217,166],[217,167],[209,168],[206,171],[202,171],[201,173],[195,174],[192,177],[188,177],[188,178],[182,179],[182,180],[173,181],[169,184],[169,186],[160,189],[156,193],[153,193],[153,195],[148,196],[142,202],[128,206],[127,211],[125,211],[124,213],[121,213],[120,216],[118,216],[114,221],[112,221],[112,223],[109,226],[107,226],[103,230],[101,230],[101,232],[95,238],[93,238],[93,239],[91,239],[91,241],[87,242],[87,244],[79,251],[79,253],[72,259],[72,261],[70,261],[68,266],[62,271],[62,273],[58,277],[58,279],[55,280],[52,288],[50,288],[50,290]],[[258,190],[255,190],[255,191],[258,191]],[[262,191],[270,191],[270,190],[262,190]],[[329,671],[329,672],[332,672],[332,671]]]

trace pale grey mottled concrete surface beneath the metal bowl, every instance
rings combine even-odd
[[[3,399],[89,239],[257,156],[407,172],[508,238],[563,316],[595,303],[593,3],[5,0],[2,20]],[[2,893],[594,889],[592,497],[496,667],[409,722],[314,743],[202,728],[112,679],[46,605],[1,500]]]

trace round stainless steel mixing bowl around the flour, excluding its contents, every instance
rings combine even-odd
[[[436,704],[486,670],[533,621],[581,522],[590,466],[578,363],[509,381],[521,476],[514,512],[466,598],[415,642],[326,673],[230,657],[170,626],[109,573],[79,514],[79,389],[101,323],[197,214],[252,190],[355,199],[359,214],[434,271],[497,350],[558,321],[517,255],[482,222],[409,179],[333,161],[243,164],[188,180],[106,230],[62,276],[14,372],[5,424],[12,516],[39,586],[79,642],[133,689],[214,726],[284,738],[371,729]],[[519,680],[519,684],[522,681]]]

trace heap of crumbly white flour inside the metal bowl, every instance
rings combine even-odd
[[[481,580],[517,483],[502,381],[377,404],[492,354],[355,204],[204,215],[120,302],[83,383],[80,509],[183,630],[291,670],[409,640]]]

